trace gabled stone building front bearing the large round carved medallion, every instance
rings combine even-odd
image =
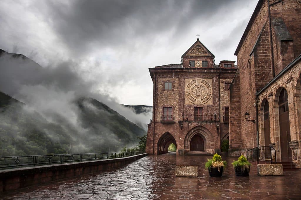
[[[150,68],[154,83],[153,119],[148,125],[146,152],[215,153],[229,134],[228,86],[235,61],[214,64],[214,55],[197,39],[179,65]]]

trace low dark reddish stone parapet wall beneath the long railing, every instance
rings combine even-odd
[[[116,169],[144,156],[147,156],[147,153],[125,158],[2,170],[0,171],[0,193],[83,174]]]

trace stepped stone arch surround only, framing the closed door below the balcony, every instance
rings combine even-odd
[[[203,140],[204,140],[204,151],[207,151],[213,146],[213,137],[211,132],[206,129],[203,126],[196,126],[192,129],[190,129],[190,131],[188,131],[188,133],[185,136],[184,139],[184,149],[185,150],[190,150],[190,142],[191,139],[195,136],[195,135],[200,135]],[[210,153],[212,153],[212,151],[214,151],[214,149],[209,150]]]

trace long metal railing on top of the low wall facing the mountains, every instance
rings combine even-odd
[[[119,152],[119,153],[76,153],[76,154],[54,154],[37,156],[6,156],[0,157],[0,168],[19,168],[40,165],[63,164],[68,162],[83,162],[101,159],[123,158],[134,156],[145,151]]]

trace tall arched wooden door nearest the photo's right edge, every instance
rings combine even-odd
[[[283,88],[279,95],[279,131],[281,160],[292,160],[290,142],[290,116],[288,111],[287,91]]]

